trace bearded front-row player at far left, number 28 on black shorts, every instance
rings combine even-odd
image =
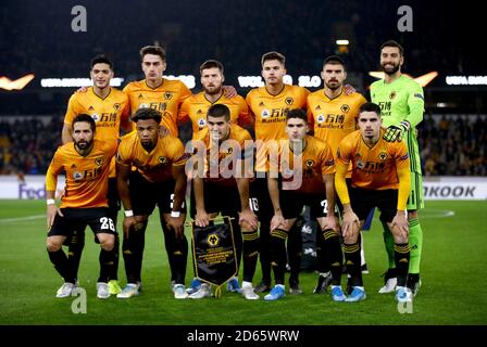
[[[100,243],[100,277],[97,296],[110,297],[108,282],[114,273],[115,223],[110,217],[107,202],[110,163],[116,152],[116,140],[96,140],[96,125],[90,115],[80,114],[71,123],[73,142],[59,147],[46,174],[47,248],[55,270],[64,279],[57,297],[68,297],[76,283],[76,270],[62,249],[67,237],[89,226]],[[66,172],[65,192],[61,209],[55,206],[54,192],[58,175]]]

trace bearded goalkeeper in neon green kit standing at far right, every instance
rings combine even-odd
[[[403,62],[403,49],[398,42],[387,41],[380,47],[380,66],[384,69],[385,78],[371,85],[371,99],[382,110],[383,127],[387,129],[384,139],[388,142],[405,139],[408,143],[411,158],[411,192],[408,200],[411,258],[408,287],[416,295],[421,285],[420,262],[423,246],[423,231],[417,210],[424,207],[416,126],[423,120],[424,94],[423,88],[416,81],[401,74]],[[394,292],[397,283],[394,239],[387,226],[383,227],[389,268],[385,275],[385,285],[379,290],[382,294]]]

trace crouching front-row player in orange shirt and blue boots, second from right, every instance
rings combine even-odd
[[[335,162],[332,147],[323,140],[307,136],[309,128],[307,113],[303,110],[291,110],[286,118],[288,140],[282,141],[277,158],[278,174],[283,180],[282,190],[278,188],[278,178],[273,175],[274,163],[271,163],[267,178],[269,193],[274,207],[271,222],[271,264],[276,285],[265,295],[264,300],[277,300],[285,295],[285,241],[302,208],[309,205],[311,217],[316,218],[321,228],[324,252],[336,265],[333,268],[333,299],[344,301],[346,297],[340,287],[341,245],[339,242],[334,242],[338,240],[339,226],[335,216]]]

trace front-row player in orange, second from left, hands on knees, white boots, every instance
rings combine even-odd
[[[116,297],[138,295],[145,234],[149,216],[158,205],[165,248],[171,266],[174,297],[186,298],[185,275],[188,254],[184,239],[187,155],[179,139],[159,137],[161,114],[139,108],[133,115],[136,130],[122,138],[116,156],[118,192],[125,209],[123,255],[127,285]],[[137,170],[132,171],[132,167]],[[186,239],[185,239],[186,240]]]

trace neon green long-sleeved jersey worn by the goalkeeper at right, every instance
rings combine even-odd
[[[411,130],[408,131],[407,140],[411,156],[411,171],[421,174],[415,127],[423,120],[423,88],[404,75],[391,83],[385,83],[384,79],[380,79],[371,85],[371,100],[380,106],[385,128],[399,126],[402,120],[409,121]]]

